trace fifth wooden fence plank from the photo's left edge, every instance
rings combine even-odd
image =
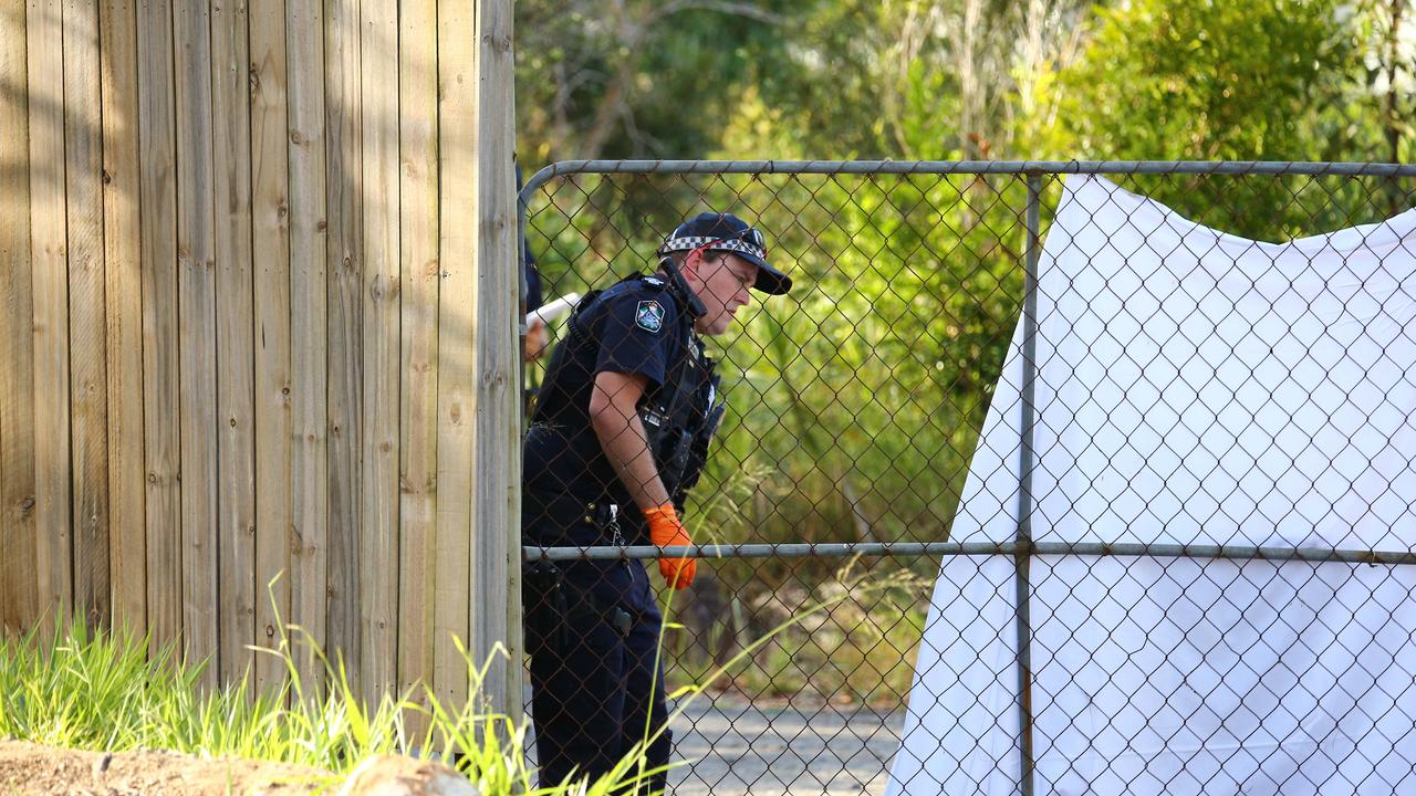
[[[177,123],[170,0],[137,6],[139,190],[143,278],[143,470],[152,652],[181,640],[181,405],[178,395]]]

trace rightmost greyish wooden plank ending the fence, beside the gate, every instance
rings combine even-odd
[[[515,106],[513,101],[511,0],[480,0],[477,44],[476,235],[477,295],[473,350],[476,364],[476,448],[473,452],[470,649],[476,660],[504,643],[483,683],[494,710],[520,715],[521,644],[521,456],[520,361],[517,327],[520,249],[517,246]],[[517,661],[515,666],[510,666]]]

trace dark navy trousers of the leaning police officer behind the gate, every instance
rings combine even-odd
[[[583,506],[554,503],[561,501],[528,494],[523,535],[530,544],[609,544]],[[569,775],[589,775],[593,782],[656,734],[646,769],[667,765],[673,741],[663,667],[654,659],[663,618],[649,574],[639,561],[572,561],[556,568],[559,596],[538,576],[525,579],[524,593],[539,785],[549,788]],[[664,786],[660,773],[641,782],[637,793]]]

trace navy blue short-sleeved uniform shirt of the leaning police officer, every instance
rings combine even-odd
[[[632,506],[590,426],[595,377],[606,371],[643,375],[646,395],[653,397],[683,357],[701,356],[700,343],[691,319],[657,276],[632,276],[589,297],[572,327],[579,333],[568,331],[556,346],[531,415],[525,483],[586,503]]]

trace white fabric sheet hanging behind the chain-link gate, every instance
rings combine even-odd
[[[1416,544],[1416,211],[1276,245],[1073,176],[1039,263],[1039,542]],[[1022,324],[952,541],[1012,541]],[[1042,557],[1037,792],[1416,793],[1416,568]],[[949,557],[892,796],[1020,792],[1015,574]]]

